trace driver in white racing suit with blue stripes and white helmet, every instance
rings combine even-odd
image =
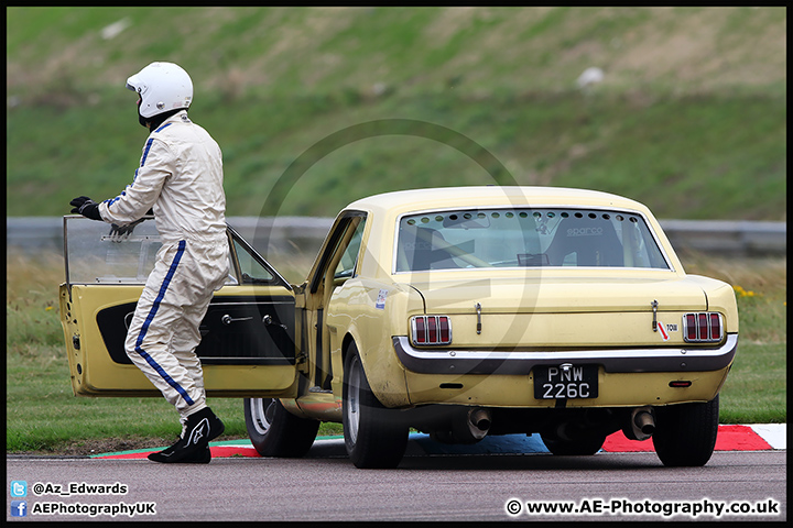
[[[229,272],[220,147],[187,117],[193,81],[176,64],[152,63],[127,79],[127,88],[138,94],[138,120],[150,130],[132,184],[102,202],[75,198],[72,212],[127,235],[144,215],[154,215],[163,245],[138,300],[126,351],[182,422],[176,443],[149,459],[207,463],[208,443],[224,424],[206,405],[195,349],[213,292]]]

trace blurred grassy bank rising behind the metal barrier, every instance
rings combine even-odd
[[[329,134],[413,119],[477,142],[519,184],[612,191],[660,218],[786,217],[784,8],[161,8],[157,34],[137,37],[150,11],[7,10],[7,215],[118,195],[146,135],[123,82],[170,59],[224,150],[230,216],[330,217],[374,193],[492,183],[443,142],[370,138],[262,210]],[[579,90],[589,66],[606,78]]]

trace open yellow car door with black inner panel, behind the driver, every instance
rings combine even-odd
[[[162,245],[146,217],[126,238],[64,217],[66,282],[61,322],[72,387],[86,396],[161,396],[124,352],[127,328]],[[196,353],[208,396],[295,397],[295,296],[290,284],[228,228],[231,272],[200,324]]]

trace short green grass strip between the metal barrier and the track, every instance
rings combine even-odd
[[[721,391],[724,424],[786,421],[786,261],[684,258],[689,273],[737,287],[741,338]],[[7,452],[89,454],[169,446],[180,433],[162,398],[75,397],[57,314],[59,257],[7,255]],[[210,398],[225,439],[247,438],[241,399]],[[324,424],[321,435],[339,435]]]

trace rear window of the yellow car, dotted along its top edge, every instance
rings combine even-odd
[[[510,208],[400,219],[397,272],[535,266],[670,268],[638,213]]]

